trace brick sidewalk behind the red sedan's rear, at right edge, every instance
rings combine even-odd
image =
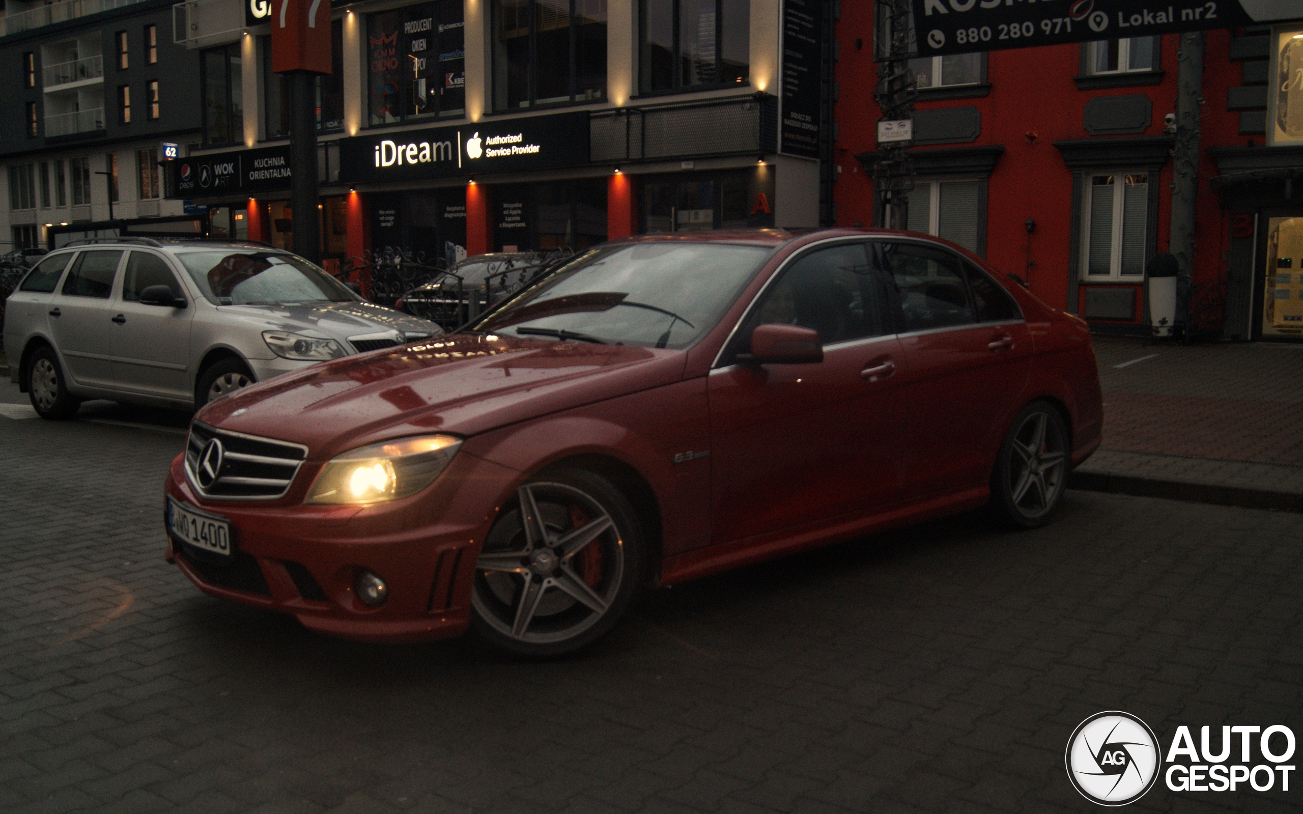
[[[1303,511],[1303,348],[1096,337],[1098,491]]]

